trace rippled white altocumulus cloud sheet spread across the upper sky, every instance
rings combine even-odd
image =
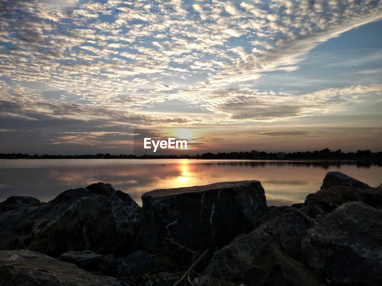
[[[82,121],[99,132],[283,121],[379,102],[380,82],[304,93],[256,81],[296,71],[320,43],[380,20],[380,1],[0,3],[3,118]],[[194,109],[161,112],[169,100]]]

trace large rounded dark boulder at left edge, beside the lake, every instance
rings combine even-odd
[[[0,249],[52,257],[74,250],[108,254],[118,234],[110,202],[86,189],[67,190],[39,207],[0,214]]]

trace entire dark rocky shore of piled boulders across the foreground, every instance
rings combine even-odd
[[[0,202],[0,285],[380,285],[382,185],[329,172],[304,203],[259,181],[154,190],[110,184]]]

